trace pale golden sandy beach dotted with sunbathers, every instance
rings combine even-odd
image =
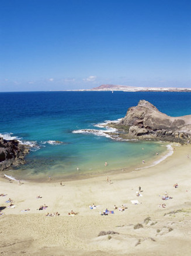
[[[158,165],[131,172],[119,170],[109,176],[109,181],[102,175],[70,182],[62,180],[62,185],[47,180],[47,183],[23,182],[19,186],[18,182],[1,178],[0,252],[2,255],[190,255],[190,169],[191,146],[184,145],[175,146],[173,155]],[[177,188],[173,186],[175,183]],[[162,200],[162,196],[172,199]],[[6,203],[8,199],[12,203]],[[137,204],[132,200],[137,200]],[[39,210],[44,204],[48,207]],[[93,204],[96,207],[90,209]],[[162,204],[164,208],[159,207]],[[110,212],[105,216],[106,209]],[[68,215],[71,210],[78,214]],[[55,212],[60,215],[46,216]],[[99,235],[101,231],[105,233]]]

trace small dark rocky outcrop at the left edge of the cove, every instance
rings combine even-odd
[[[20,144],[16,139],[0,138],[0,170],[23,165],[29,151],[29,146]]]

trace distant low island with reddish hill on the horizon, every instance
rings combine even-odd
[[[120,86],[114,84],[102,84],[101,86],[92,89],[84,89],[77,91],[177,91],[191,92],[191,88],[176,88],[176,87],[134,87]]]

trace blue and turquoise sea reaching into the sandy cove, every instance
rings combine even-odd
[[[133,170],[143,166],[143,159],[145,165],[152,165],[168,155],[166,144],[114,141],[101,125],[123,118],[139,100],[148,100],[173,117],[191,114],[191,93],[0,93],[1,136],[32,145],[26,165],[6,173],[18,179],[46,181],[49,176],[64,180]]]

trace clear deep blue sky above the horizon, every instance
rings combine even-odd
[[[0,91],[191,87],[190,0],[0,6]]]

